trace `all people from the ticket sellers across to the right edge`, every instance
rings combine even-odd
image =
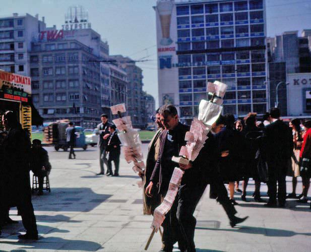
[[[163,201],[188,125],[178,120],[173,105],[163,105],[156,111],[158,131],[149,144],[144,177],[144,213],[153,214]],[[246,198],[248,180],[255,180],[256,202],[261,198],[260,185],[268,185],[265,207],[286,206],[286,198],[307,203],[307,191],[311,177],[311,120],[293,119],[286,124],[280,119],[280,110],[271,108],[262,121],[256,113],[248,113],[235,120],[233,114],[220,115],[212,125],[199,156],[189,165],[179,164],[184,171],[178,194],[162,223],[162,249],[172,251],[178,241],[180,251],[196,251],[194,234],[196,206],[205,188],[210,184],[210,198],[216,199],[225,210],[231,227],[247,218],[236,217],[235,192]],[[286,175],[293,177],[293,191],[286,195]],[[297,176],[302,177],[302,194],[296,195]],[[240,190],[239,181],[242,182]],[[228,192],[224,184],[228,184]],[[311,204],[310,204],[311,209]]]

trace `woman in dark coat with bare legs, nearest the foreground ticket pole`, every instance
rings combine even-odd
[[[220,156],[220,174],[225,183],[229,183],[230,201],[234,201],[234,181],[242,177],[242,138],[234,129],[234,115],[225,114],[225,128],[216,135]]]

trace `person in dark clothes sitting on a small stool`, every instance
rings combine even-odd
[[[51,164],[48,161],[47,151],[41,146],[41,141],[34,139],[30,149],[30,169],[39,180],[38,195],[43,194],[43,179],[50,173]]]

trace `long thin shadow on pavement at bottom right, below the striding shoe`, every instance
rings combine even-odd
[[[262,234],[262,235],[271,236],[271,237],[291,237],[291,236],[298,235],[298,234],[311,236],[311,233],[296,233],[291,230],[263,228],[263,227],[249,227],[249,226],[240,226],[240,228],[231,228],[231,229],[205,228],[205,227],[199,227],[196,229],[228,231],[228,232],[238,232],[238,233],[247,233],[247,234]]]

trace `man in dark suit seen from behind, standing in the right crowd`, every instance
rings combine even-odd
[[[271,123],[265,127],[266,158],[268,164],[269,201],[267,207],[285,207],[286,169],[293,150],[293,137],[290,128],[280,120],[279,108],[270,109]],[[278,190],[277,190],[278,182]],[[278,193],[277,193],[278,192]]]

